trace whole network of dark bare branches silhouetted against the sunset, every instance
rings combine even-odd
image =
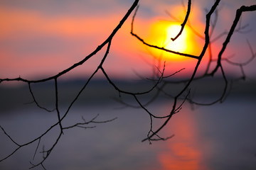
[[[196,29],[194,29],[193,25],[189,22],[192,1],[188,0],[188,8],[186,10],[186,16],[181,23],[181,30],[176,35],[176,37],[171,38],[171,40],[175,41],[176,39],[178,39],[179,36],[183,33],[183,29],[186,26],[190,27],[193,30],[193,33],[195,35],[197,35],[199,38],[204,40],[203,45],[201,47],[200,55],[193,55],[193,54],[186,54],[183,52],[178,52],[175,49],[167,49],[166,47],[159,47],[158,45],[151,44],[149,42],[146,42],[146,40],[144,40],[144,38],[139,36],[138,33],[135,33],[134,32],[134,24],[135,24],[135,18],[137,16],[137,12],[139,10],[138,3],[139,3],[139,0],[134,0],[132,6],[130,6],[127,13],[124,14],[123,18],[119,21],[117,26],[114,28],[112,33],[110,33],[110,35],[104,40],[104,42],[102,42],[99,46],[97,46],[95,48],[95,50],[93,50],[89,55],[87,55],[82,60],[80,60],[80,62],[76,62],[75,64],[71,65],[67,69],[64,69],[62,72],[59,72],[58,74],[55,74],[52,77],[47,77],[44,79],[23,79],[22,77],[16,77],[14,79],[10,79],[10,78],[0,79],[0,84],[3,83],[4,81],[21,81],[21,82],[28,84],[29,94],[31,95],[31,97],[33,99],[32,103],[35,103],[36,107],[41,108],[44,111],[47,111],[50,113],[55,113],[58,118],[58,121],[55,121],[55,123],[50,125],[50,127],[48,127],[47,130],[45,130],[41,134],[38,134],[37,137],[33,138],[33,140],[28,140],[27,142],[24,142],[22,144],[16,140],[14,140],[15,138],[9,134],[8,130],[6,130],[3,126],[0,125],[2,132],[4,132],[4,135],[6,135],[6,137],[8,137],[10,142],[16,146],[16,149],[14,149],[10,154],[7,154],[6,156],[0,158],[0,162],[3,162],[4,160],[13,156],[21,148],[31,145],[33,143],[36,143],[36,149],[33,154],[33,160],[30,162],[31,169],[33,169],[37,166],[41,166],[43,169],[46,169],[46,167],[44,166],[44,162],[46,162],[46,160],[52,153],[55,146],[58,145],[58,142],[60,141],[61,137],[63,137],[65,130],[70,130],[72,128],[83,128],[83,129],[95,128],[95,124],[109,123],[109,122],[112,122],[113,120],[115,120],[116,118],[112,118],[110,120],[99,121],[99,120],[97,120],[99,115],[96,115],[94,118],[92,118],[89,121],[86,121],[85,118],[82,117],[82,122],[75,123],[73,125],[65,125],[63,123],[63,120],[65,120],[65,118],[67,118],[68,113],[70,113],[70,109],[73,107],[74,103],[76,101],[78,101],[78,98],[82,94],[82,91],[84,91],[87,88],[88,84],[90,84],[90,81],[95,77],[95,74],[97,74],[97,72],[101,72],[104,75],[105,79],[109,82],[109,84],[112,86],[112,88],[119,93],[120,97],[121,97],[121,95],[132,96],[132,98],[136,102],[136,105],[129,105],[129,104],[125,103],[124,101],[122,101],[121,98],[120,98],[120,100],[118,100],[120,103],[123,103],[124,106],[128,106],[128,107],[141,108],[145,113],[147,113],[149,115],[149,119],[150,119],[149,131],[147,132],[146,137],[144,137],[144,139],[142,140],[142,142],[149,141],[149,144],[151,144],[151,142],[153,142],[153,141],[169,140],[172,137],[174,137],[174,135],[170,135],[169,137],[161,137],[161,135],[159,135],[159,132],[166,127],[166,125],[169,123],[169,121],[171,120],[171,118],[174,114],[181,112],[183,104],[186,101],[188,101],[189,103],[192,103],[192,104],[196,104],[196,105],[208,106],[208,105],[213,105],[214,103],[218,103],[218,102],[221,103],[225,100],[225,96],[227,96],[227,94],[228,94],[229,82],[225,75],[225,71],[223,69],[223,64],[222,64],[223,62],[227,62],[228,64],[232,64],[236,67],[239,67],[241,74],[242,74],[242,79],[245,79],[244,67],[247,64],[249,64],[250,62],[252,62],[252,60],[254,60],[255,56],[256,56],[256,52],[254,52],[252,45],[250,45],[249,40],[247,40],[247,45],[251,52],[251,57],[249,60],[247,60],[245,62],[240,62],[240,63],[233,62],[232,60],[230,60],[230,58],[225,57],[223,54],[224,54],[226,48],[228,47],[228,43],[230,42],[233,34],[234,33],[242,33],[244,28],[247,27],[247,25],[240,26],[240,17],[242,16],[242,13],[249,12],[249,11],[256,11],[256,5],[241,6],[240,8],[238,8],[238,10],[235,13],[235,18],[234,18],[232,26],[230,27],[230,30],[220,33],[220,35],[218,35],[217,37],[212,38],[213,31],[215,31],[215,26],[217,25],[217,22],[218,22],[218,6],[220,4],[220,0],[216,0],[213,3],[213,5],[210,7],[210,10],[206,13],[206,18],[205,18],[206,23],[205,23],[205,28],[204,28],[204,35],[201,35]],[[169,79],[171,79],[175,74],[182,72],[183,69],[186,69],[186,68],[177,70],[173,74],[166,75],[166,72],[165,72],[166,63],[163,62],[162,69],[160,67],[156,67],[157,73],[156,73],[155,77],[147,79],[147,81],[153,82],[153,84],[151,84],[151,86],[148,89],[144,89],[143,91],[127,91],[127,90],[124,90],[124,89],[120,88],[119,86],[117,86],[117,84],[113,81],[113,79],[109,76],[109,74],[107,74],[106,70],[104,69],[104,64],[105,64],[105,60],[107,59],[108,54],[110,52],[112,40],[113,40],[114,36],[117,34],[119,29],[122,28],[124,23],[127,22],[127,18],[129,18],[129,16],[132,14],[133,11],[134,11],[134,15],[132,16],[132,23],[131,23],[131,30],[130,30],[131,35],[134,38],[136,38],[137,40],[139,40],[139,42],[142,42],[142,44],[146,45],[147,47],[155,48],[157,50],[161,50],[164,52],[169,52],[174,55],[179,55],[179,57],[188,57],[193,60],[196,60],[196,64],[195,64],[195,67],[193,68],[193,72],[191,72],[191,77],[189,77],[188,79],[183,79],[181,81],[170,81]],[[171,14],[169,12],[167,12],[167,13],[169,16],[171,16],[171,18],[174,18],[176,21],[178,20],[173,14]],[[214,14],[215,14],[215,18],[213,18]],[[221,47],[220,52],[218,52],[217,60],[213,60],[213,52],[212,52],[212,48],[211,48],[211,43],[213,43],[217,40],[220,40],[220,38],[223,36],[226,36],[225,41],[223,42],[223,47]],[[70,103],[68,103],[68,108],[62,113],[60,111],[60,106],[59,106],[59,101],[60,101],[59,86],[58,86],[59,78],[65,74],[67,74],[71,70],[75,69],[76,67],[81,66],[88,60],[90,60],[90,58],[95,56],[98,52],[102,51],[103,47],[106,47],[106,50],[105,50],[104,55],[102,56],[102,60],[97,65],[94,72],[92,72],[92,74],[87,79],[87,81],[82,86],[82,88],[80,88],[80,91],[78,91],[78,93],[75,95],[73,100]],[[206,57],[207,51],[209,52],[209,60],[208,60],[207,66],[206,66],[206,71],[200,77],[196,77],[196,74],[198,73],[198,67],[201,66],[201,61],[203,60],[203,57]],[[212,68],[213,66],[214,66],[214,69],[210,71],[210,68]],[[218,71],[221,72],[221,76],[222,76],[222,79],[224,82],[223,90],[222,90],[222,93],[220,94],[220,96],[217,99],[215,99],[215,101],[212,101],[210,103],[199,103],[199,102],[194,101],[193,98],[191,98],[192,82],[197,81],[199,79],[204,79],[206,77],[214,77]],[[41,84],[46,81],[54,81],[54,89],[55,89],[55,92],[54,92],[55,105],[54,105],[54,107],[55,108],[53,108],[52,110],[50,110],[46,107],[43,107],[38,102],[35,94],[33,93],[33,89],[32,89],[33,86],[31,86],[31,84]],[[169,87],[168,86],[169,84],[183,84],[183,87],[179,91],[176,91],[175,95],[171,95],[166,91],[166,89],[168,89],[168,87]],[[151,98],[149,98],[149,100],[146,103],[144,103],[144,101],[142,101],[142,99],[140,99],[139,96],[144,96],[146,94],[151,94]],[[152,113],[148,108],[148,106],[152,103],[152,101],[154,101],[160,94],[164,94],[166,96],[169,96],[169,98],[171,98],[170,111],[167,111],[165,115],[161,115],[161,116],[158,113]],[[155,128],[154,120],[159,120],[159,119],[164,120],[164,123],[159,125],[159,127]],[[53,128],[55,128],[55,127],[57,127],[59,130],[58,135],[55,135],[55,141],[50,145],[50,147],[48,149],[45,149],[43,147],[43,150],[41,152],[39,152],[38,148],[39,148],[39,146],[41,146],[41,142],[42,142],[43,138],[46,137],[46,135],[51,130],[53,130]],[[36,154],[38,154],[38,152],[43,154],[43,157],[40,161],[35,162],[34,158],[36,157]]]

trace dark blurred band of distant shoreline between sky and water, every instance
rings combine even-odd
[[[74,79],[59,81],[59,98],[61,103],[68,104],[73,98],[75,98],[78,91],[84,86],[86,79]],[[114,83],[119,86],[120,89],[132,92],[146,91],[151,89],[153,83],[150,81],[127,81],[114,79]],[[251,98],[256,101],[256,80],[248,81],[237,81],[232,85],[228,98]],[[182,88],[183,84],[174,84],[166,89],[166,92],[177,93]],[[193,96],[199,98],[213,98],[215,96],[220,96],[223,92],[223,80],[222,79],[208,79],[195,81],[192,84]],[[55,89],[53,82],[47,82],[42,84],[31,84],[33,94],[36,96],[38,102],[43,106],[53,106],[55,103]],[[1,86],[0,85],[0,112],[7,111],[9,109],[18,109],[24,106],[24,103],[29,103],[33,101],[31,94],[29,92],[28,86],[23,84],[23,86]],[[155,93],[151,94],[153,96]],[[122,98],[129,98],[121,94]],[[149,98],[150,95],[144,95],[142,98]],[[166,98],[164,94],[160,93],[160,98]],[[94,79],[88,84],[85,91],[79,97],[77,101],[78,104],[84,103],[100,103],[101,101],[107,102],[113,100],[113,98],[119,98],[119,93],[116,91],[111,84],[105,79]]]

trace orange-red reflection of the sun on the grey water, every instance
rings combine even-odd
[[[162,169],[206,170],[193,115],[175,115],[170,129],[175,132],[175,137],[167,141],[166,150],[158,154]]]

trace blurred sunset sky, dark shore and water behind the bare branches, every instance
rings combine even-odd
[[[58,74],[95,50],[112,33],[132,3],[132,0],[0,1],[0,78],[42,79]],[[182,22],[186,15],[186,3],[140,1],[134,32],[152,44],[199,55],[204,41],[193,33],[193,29],[203,35],[206,11],[213,1],[192,1],[191,28],[186,27],[183,42],[172,46],[169,39],[176,33],[170,35],[174,31],[170,26]],[[214,40],[213,59],[216,59],[225,40],[225,34],[220,38],[218,35],[230,29],[236,9],[252,4],[255,1],[221,1],[217,25],[211,36]],[[250,60],[252,52],[247,42],[256,50],[255,14],[249,12],[242,15],[240,26],[245,26],[245,29],[233,35],[224,57],[233,62]],[[115,84],[128,91],[150,89],[152,82],[145,78],[156,76],[156,67],[163,69],[164,61],[165,75],[186,68],[169,80],[179,81],[191,76],[196,60],[142,45],[130,35],[131,22],[132,16],[114,37],[110,54],[103,64]],[[95,71],[105,49],[58,79],[61,114],[65,113]],[[208,54],[203,58],[196,76],[205,72],[208,58]],[[223,62],[229,82],[233,81],[228,86],[230,92],[225,102],[213,106],[185,103],[181,112],[160,134],[162,137],[174,137],[164,142],[153,142],[153,145],[141,142],[150,128],[149,115],[142,109],[120,103],[119,93],[98,72],[63,123],[73,125],[82,121],[82,116],[90,120],[97,114],[97,120],[117,120],[97,124],[92,129],[67,130],[45,166],[49,169],[255,169],[255,64],[256,60],[252,60],[243,67],[245,81],[235,81],[242,77],[240,67]],[[216,74],[216,77],[195,81],[191,91],[196,101],[210,102],[221,95],[223,85],[223,80]],[[166,91],[176,94],[181,86],[183,84],[169,85]],[[31,84],[31,88],[41,106],[54,108],[53,81]],[[146,103],[155,93],[152,91],[152,94],[140,99]],[[137,106],[129,96],[122,95],[121,99]],[[0,84],[0,125],[18,143],[32,140],[58,121],[55,112],[43,111],[31,101],[33,98],[27,84]],[[149,110],[159,115],[169,113],[171,101],[171,98],[161,94],[151,103]],[[154,121],[154,127],[157,128],[160,123]],[[43,146],[50,147],[57,132],[58,128],[41,141],[40,151]],[[36,145],[33,143],[0,162],[0,169],[28,169]],[[0,148],[0,159],[16,149],[4,132],[0,132]],[[41,157],[42,154],[38,153],[34,161]]]

